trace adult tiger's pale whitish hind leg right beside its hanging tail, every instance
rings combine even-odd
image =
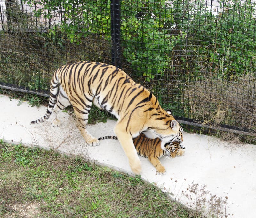
[[[70,104],[71,103],[68,100],[66,93],[63,91],[63,89],[60,86],[60,91],[57,97],[57,101],[52,110],[52,117],[51,117],[52,126],[59,127],[61,125],[60,120],[57,119],[57,114],[61,110],[63,110],[65,107],[69,106]]]

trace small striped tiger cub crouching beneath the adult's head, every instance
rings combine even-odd
[[[140,156],[148,157],[149,161],[156,168],[157,172],[161,175],[166,173],[164,166],[160,162],[160,158],[164,155],[168,157],[174,158],[176,156],[183,156],[185,147],[182,146],[183,129],[180,127],[180,135],[177,138],[177,141],[167,142],[164,145],[164,149],[161,148],[161,139],[154,138],[150,139],[145,136],[145,134],[141,133],[138,137],[133,139],[133,143],[137,153]],[[104,139],[115,139],[118,140],[116,136],[104,136],[98,138],[98,140]]]

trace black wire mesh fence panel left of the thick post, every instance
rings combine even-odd
[[[0,0],[0,12],[2,84],[47,92],[61,65],[111,62],[110,1]]]

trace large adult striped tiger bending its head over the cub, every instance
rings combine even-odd
[[[132,138],[146,130],[154,132],[162,140],[164,149],[166,142],[178,137],[179,123],[171,112],[161,108],[150,91],[135,83],[121,69],[90,61],[67,64],[55,71],[46,114],[31,123],[43,122],[52,114],[52,125],[60,126],[57,113],[71,104],[85,142],[89,146],[98,145],[99,140],[87,131],[92,102],[118,119],[114,131],[135,174],[140,174],[141,162]]]

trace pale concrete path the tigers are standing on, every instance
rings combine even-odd
[[[108,139],[101,141],[96,147],[86,146],[72,115],[60,112],[60,127],[52,127],[48,121],[31,125],[31,120],[45,114],[46,107],[31,107],[27,102],[17,106],[18,103],[19,100],[10,100],[0,94],[0,138],[4,141],[13,140],[14,143],[22,142],[28,146],[82,155],[96,164],[132,174],[118,141]],[[89,125],[88,130],[95,137],[114,135],[115,123],[116,121],[108,120],[106,123]],[[161,158],[161,163],[167,171],[164,176],[156,175],[156,170],[148,159],[140,157],[143,169],[141,177],[170,193],[176,201],[187,206],[193,205],[198,210],[204,206],[205,213],[211,211],[211,205],[207,201],[216,195],[213,197],[215,200],[217,197],[226,200],[225,196],[228,196],[226,204],[221,202],[222,206],[226,205],[226,214],[230,214],[228,217],[255,217],[256,146],[232,144],[191,133],[184,133],[184,145],[184,156],[174,159]],[[198,189],[193,192],[196,184]],[[207,190],[210,193],[205,194]],[[202,195],[201,198],[199,195]],[[201,206],[196,203],[198,198],[201,199]]]

